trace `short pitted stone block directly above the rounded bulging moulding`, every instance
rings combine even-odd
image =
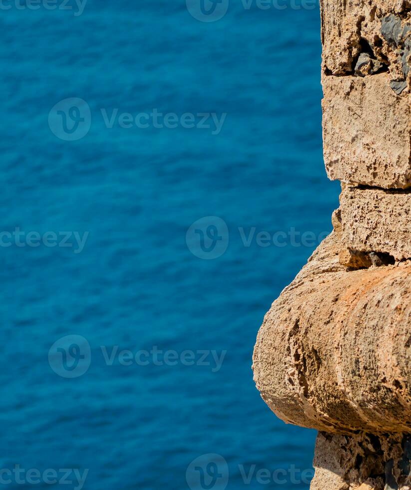
[[[344,185],[340,196],[342,244],[360,252],[411,258],[411,189]]]

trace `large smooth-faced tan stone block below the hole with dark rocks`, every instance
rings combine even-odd
[[[332,180],[411,186],[411,111],[388,74],[323,79],[324,159]]]

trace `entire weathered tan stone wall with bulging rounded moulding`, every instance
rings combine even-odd
[[[334,231],[264,318],[258,389],[319,430],[312,490],[411,488],[411,2],[323,0]]]

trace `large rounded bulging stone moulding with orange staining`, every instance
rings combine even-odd
[[[274,301],[254,379],[281,419],[341,433],[411,430],[411,264],[347,272],[333,232]]]

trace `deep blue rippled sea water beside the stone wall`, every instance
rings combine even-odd
[[[74,469],[88,469],[92,490],[196,490],[203,470],[203,488],[221,490],[224,458],[229,489],[307,489],[289,475],[292,464],[312,468],[315,432],[269,410],[251,357],[265,312],[315,248],[290,235],[312,232],[318,243],[338,206],[322,160],[318,6],[247,10],[231,0],[223,18],[201,22],[184,0],[89,0],[81,15],[9,4],[0,9],[0,468],[25,473],[19,484],[3,472],[0,487],[74,488]],[[49,112],[73,97],[90,109],[77,107],[89,130],[67,141],[57,137],[65,102]],[[156,109],[180,122],[190,113],[196,127],[108,128],[101,109]],[[226,113],[218,134],[197,127],[203,112]],[[205,216],[219,219],[190,228]],[[73,246],[62,246],[63,232]],[[284,246],[261,246],[267,236]],[[50,351],[67,335],[84,341]],[[110,365],[104,352],[115,346],[139,362],[116,355]],[[161,360],[155,348],[172,353]],[[212,353],[199,362],[204,350],[219,368]],[[210,453],[221,458],[189,468]],[[253,467],[288,472],[267,484],[253,473],[247,484],[242,470]],[[60,481],[63,468],[73,483]],[[46,469],[60,484],[47,484]]]

